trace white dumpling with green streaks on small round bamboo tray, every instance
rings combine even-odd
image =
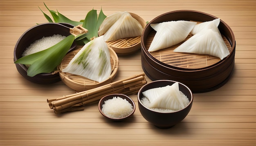
[[[97,82],[107,80],[112,73],[112,68],[110,52],[103,36],[85,44],[62,71]]]

